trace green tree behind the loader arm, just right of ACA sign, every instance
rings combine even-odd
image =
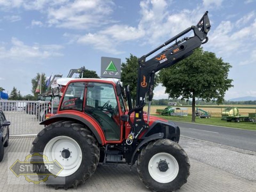
[[[121,65],[121,81],[124,87],[130,85],[130,92],[132,97],[132,106],[135,106],[136,100],[136,89],[137,89],[137,79],[138,79],[138,57],[130,54],[129,58],[125,58],[126,62]],[[158,84],[158,75],[155,76],[154,87]]]

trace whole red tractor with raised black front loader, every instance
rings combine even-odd
[[[97,165],[128,164],[137,161],[139,177],[153,191],[174,191],[187,182],[189,160],[178,144],[180,129],[174,123],[149,116],[154,76],[188,57],[193,50],[208,41],[210,21],[205,12],[192,26],[166,41],[139,59],[136,107],[132,108],[129,86],[125,91],[118,81],[77,79],[68,82],[60,100],[58,112],[40,124],[46,127],[38,133],[31,153],[43,153],[49,161],[57,160],[63,170],[49,170],[56,180],[55,188],[70,188],[84,183]],[[190,31],[192,37],[178,38]],[[175,41],[152,59],[146,58]],[[124,92],[128,107],[124,101]],[[143,113],[146,94],[148,113]]]

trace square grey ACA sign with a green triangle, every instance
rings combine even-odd
[[[101,57],[101,77],[121,78],[121,59]]]

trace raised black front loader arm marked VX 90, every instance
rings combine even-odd
[[[190,28],[185,29],[178,35],[172,37],[164,44],[160,45],[139,59],[136,107],[134,109],[129,109],[129,118],[131,112],[135,112],[135,118],[134,122],[131,124],[132,131],[129,138],[127,139],[128,143],[131,143],[133,138],[136,139],[140,132],[142,132],[144,128],[148,127],[148,124],[145,123],[143,118],[143,107],[146,104],[146,94],[148,94],[150,108],[150,101],[153,97],[155,73],[163,68],[171,67],[178,61],[185,59],[193,53],[194,49],[200,47],[201,44],[206,43],[208,41],[207,33],[209,32],[210,28],[210,20],[208,18],[208,12],[206,11],[196,26],[191,26]],[[191,30],[194,32],[193,37],[185,37],[177,41],[178,38],[187,34]],[[148,56],[157,52],[173,41],[175,41],[174,44],[166,48],[163,52],[154,56],[152,59],[146,61]]]

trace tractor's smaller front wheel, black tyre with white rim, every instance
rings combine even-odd
[[[188,155],[176,142],[159,139],[144,147],[137,160],[140,180],[156,192],[175,191],[187,182]]]

